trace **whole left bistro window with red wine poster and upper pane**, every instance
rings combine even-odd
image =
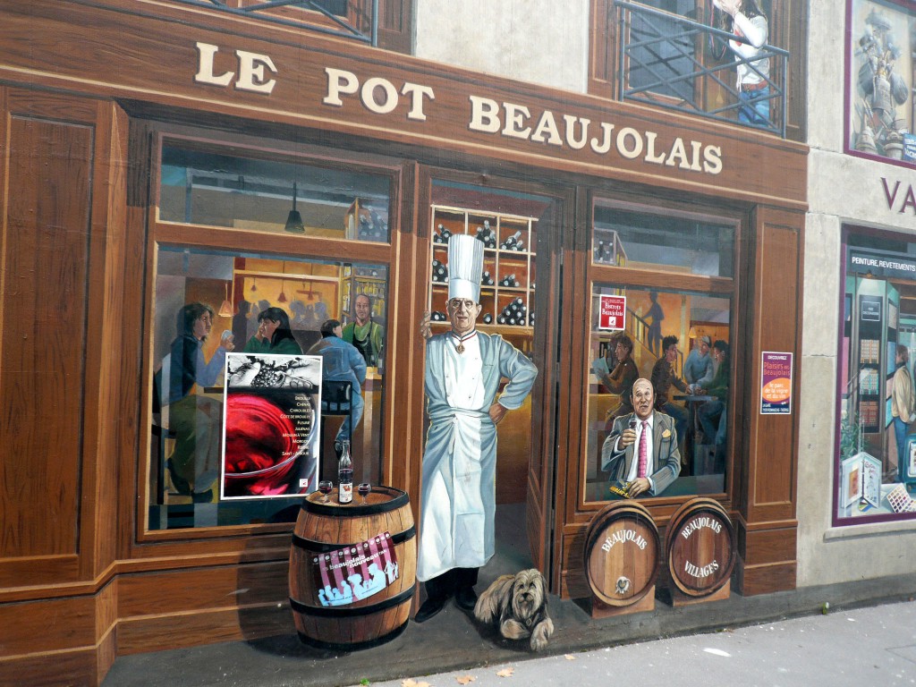
[[[153,159],[146,530],[291,522],[347,437],[384,483],[391,167],[179,134]]]

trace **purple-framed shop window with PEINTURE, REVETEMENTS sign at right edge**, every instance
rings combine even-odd
[[[834,522],[912,518],[916,243],[846,231]]]

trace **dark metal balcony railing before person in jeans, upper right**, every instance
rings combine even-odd
[[[752,59],[728,47],[739,37],[668,12],[616,0],[620,47],[617,99],[786,135],[789,52],[769,44]],[[769,69],[762,60],[769,60]],[[739,93],[736,66],[747,65],[753,90]],[[744,99],[740,96],[744,95]]]

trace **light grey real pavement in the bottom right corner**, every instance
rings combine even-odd
[[[402,687],[402,682],[372,685]],[[509,661],[418,677],[413,682],[417,687],[423,687],[423,682],[431,687],[912,685],[916,684],[916,603],[879,605],[545,659]]]

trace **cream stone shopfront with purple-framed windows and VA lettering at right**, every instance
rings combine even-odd
[[[809,53],[799,584],[916,567],[910,423],[898,435],[906,412],[894,407],[912,365],[916,9],[847,3],[843,26],[822,12],[812,8],[811,44],[823,49]]]

